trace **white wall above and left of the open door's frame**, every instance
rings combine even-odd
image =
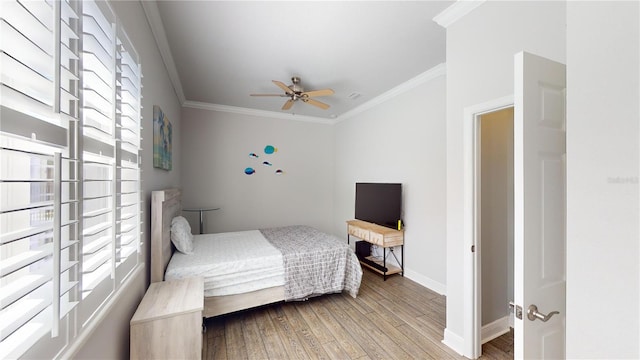
[[[465,107],[513,94],[513,56],[528,51],[565,63],[566,4],[492,2],[447,28],[447,327],[445,342],[464,340],[463,121]]]

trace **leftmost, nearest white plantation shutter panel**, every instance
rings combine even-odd
[[[77,304],[78,16],[2,1],[0,358],[64,343]],[[49,336],[46,336],[49,335]]]

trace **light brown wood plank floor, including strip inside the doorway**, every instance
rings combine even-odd
[[[364,270],[356,299],[324,295],[207,319],[203,358],[464,359],[441,342],[445,313],[444,296]],[[500,341],[485,344],[483,358],[513,359]]]

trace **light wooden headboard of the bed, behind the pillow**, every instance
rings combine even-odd
[[[182,212],[180,189],[166,189],[151,193],[151,282],[164,280],[173,245],[171,220]]]

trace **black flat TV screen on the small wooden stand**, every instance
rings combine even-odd
[[[396,229],[402,216],[402,184],[356,183],[356,219]]]

